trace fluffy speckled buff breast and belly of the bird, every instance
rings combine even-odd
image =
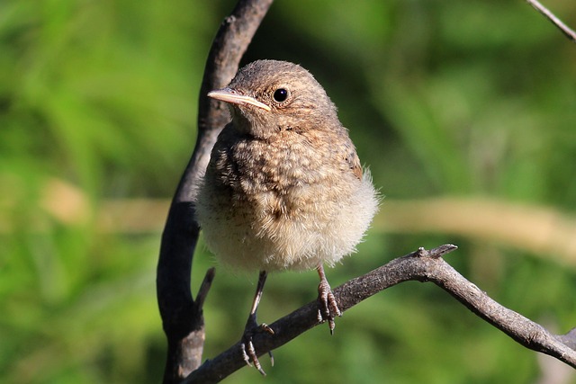
[[[219,139],[197,205],[215,255],[277,270],[334,263],[354,250],[374,216],[374,187],[351,169],[349,146],[324,144]]]

